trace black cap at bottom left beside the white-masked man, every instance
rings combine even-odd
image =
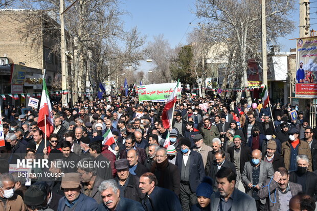
[[[31,185],[24,194],[24,203],[28,206],[38,206],[44,203],[46,195],[36,185]]]

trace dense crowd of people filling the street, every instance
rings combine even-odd
[[[314,210],[309,107],[255,101],[183,96],[170,128],[162,102],[53,102],[50,135],[37,108],[6,105],[0,210]]]

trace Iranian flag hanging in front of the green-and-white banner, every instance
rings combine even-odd
[[[162,112],[162,122],[163,122],[163,127],[165,129],[169,129],[172,125],[173,112],[174,112],[174,107],[175,107],[176,98],[177,98],[178,84],[179,84],[179,80],[173,92],[171,93],[169,99],[167,100]]]

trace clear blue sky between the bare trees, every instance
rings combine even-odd
[[[298,4],[295,5],[298,11]],[[317,7],[317,3],[310,4],[310,7]],[[153,36],[164,34],[164,38],[169,40],[171,48],[180,44],[186,44],[186,34],[190,32],[197,24],[198,20],[192,11],[195,11],[195,0],[127,0],[121,5],[123,10],[129,12],[124,16],[125,28],[131,29],[137,26],[142,35],[147,35],[147,41],[151,41]],[[316,9],[311,9],[311,18],[316,17]],[[299,13],[291,15],[296,22],[296,29],[292,34],[279,38],[281,51],[289,51],[290,48],[296,48],[295,40],[288,40],[299,37]],[[311,23],[317,23],[317,19],[312,19]],[[312,25],[311,28],[317,28]],[[184,35],[185,34],[185,35]],[[147,72],[151,69],[151,64],[142,62],[139,70]]]

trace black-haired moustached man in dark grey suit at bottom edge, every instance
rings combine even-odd
[[[210,210],[257,210],[255,200],[235,188],[236,175],[229,168],[216,174],[218,192],[210,197]]]

